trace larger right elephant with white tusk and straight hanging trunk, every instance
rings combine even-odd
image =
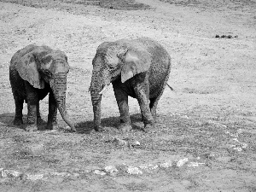
[[[102,131],[102,92],[110,83],[119,106],[119,129],[132,129],[128,107],[128,96],[131,96],[140,105],[143,131],[150,130],[171,71],[171,57],[166,49],[150,38],[106,42],[96,49],[92,65],[90,95],[95,130]]]

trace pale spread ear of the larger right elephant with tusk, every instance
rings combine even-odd
[[[121,69],[121,81],[131,79],[138,73],[148,71],[151,63],[151,55],[146,50],[129,49],[125,53],[124,66]]]

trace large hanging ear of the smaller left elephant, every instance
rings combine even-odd
[[[35,50],[32,50],[17,61],[16,68],[21,79],[28,81],[34,88],[44,89],[44,80],[38,72],[38,62]]]

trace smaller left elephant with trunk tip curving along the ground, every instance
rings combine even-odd
[[[9,80],[15,99],[15,125],[23,124],[22,109],[27,103],[26,131],[37,131],[44,122],[39,111],[39,101],[49,93],[49,114],[46,129],[55,130],[57,109],[62,119],[76,131],[66,109],[67,55],[48,46],[29,44],[12,56]]]

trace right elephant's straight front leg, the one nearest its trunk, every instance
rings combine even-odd
[[[116,84],[113,84],[114,96],[116,102],[119,106],[120,113],[120,125],[119,130],[121,131],[131,131],[131,119],[129,114],[128,106],[128,95],[125,91],[119,89]]]

